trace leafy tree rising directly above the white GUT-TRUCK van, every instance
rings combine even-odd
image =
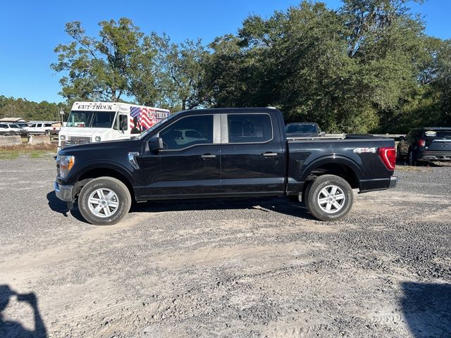
[[[119,101],[127,96],[146,104],[154,102],[154,49],[144,41],[144,34],[128,18],[99,25],[99,38],[94,38],[85,34],[78,21],[66,24],[73,41],[56,47],[58,62],[51,65],[63,73],[61,95],[68,102]]]

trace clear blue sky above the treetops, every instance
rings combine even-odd
[[[340,0],[324,1],[338,8]],[[235,33],[249,14],[268,17],[297,5],[292,0],[228,1],[4,1],[0,11],[0,95],[31,101],[63,101],[58,78],[50,69],[54,47],[67,43],[68,21],[79,20],[89,35],[97,35],[101,20],[131,18],[143,32],[166,32],[176,42]],[[451,1],[412,4],[424,16],[426,33],[451,38]]]

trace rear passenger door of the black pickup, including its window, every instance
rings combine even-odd
[[[275,115],[221,115],[221,181],[224,196],[283,194],[285,150]]]

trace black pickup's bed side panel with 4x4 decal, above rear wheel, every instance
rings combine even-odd
[[[299,137],[287,139],[287,144],[288,194],[302,191],[311,176],[328,170],[348,176],[359,192],[390,187],[393,170],[385,166],[378,149],[395,146],[394,139],[371,135]]]

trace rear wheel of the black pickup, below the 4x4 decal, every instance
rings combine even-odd
[[[335,194],[326,196],[323,192],[333,192],[336,189]],[[324,190],[323,190],[324,189]],[[328,194],[329,194],[328,192]],[[323,200],[329,199],[330,201],[319,203],[319,197],[323,196]],[[335,198],[336,199],[335,199]],[[340,199],[338,199],[340,197]],[[342,177],[335,175],[322,175],[317,177],[312,184],[306,189],[306,206],[311,215],[319,220],[339,220],[347,215],[352,208],[353,201],[352,188],[350,184]],[[341,202],[340,202],[341,201]],[[330,206],[328,206],[330,204]],[[337,208],[336,206],[340,206]],[[328,211],[326,209],[329,209]]]

